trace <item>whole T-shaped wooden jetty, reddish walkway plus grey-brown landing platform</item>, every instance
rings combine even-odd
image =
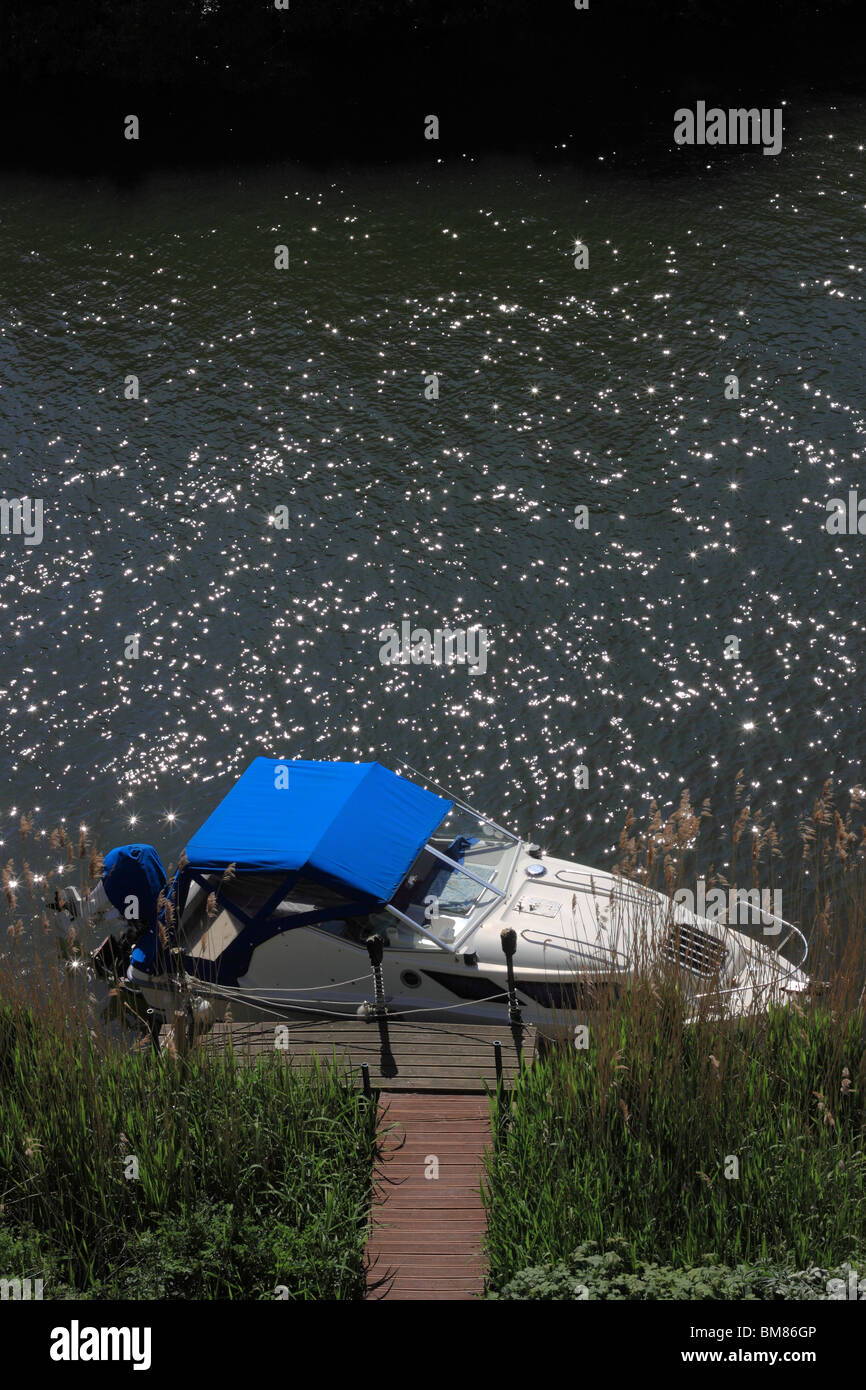
[[[367,1244],[370,1300],[453,1301],[482,1291],[489,1094],[531,1066],[534,1027],[407,1017],[217,1023],[200,1045],[231,1045],[242,1062],[274,1052],[292,1066],[335,1062],[375,1093],[381,1162]]]

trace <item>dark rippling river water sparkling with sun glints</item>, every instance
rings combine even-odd
[[[407,759],[598,863],[651,795],[744,767],[792,827],[858,781],[865,143],[4,179],[3,495],[44,500],[0,538],[6,852],[36,806],[177,858],[256,753]],[[487,671],[382,666],[403,619]]]

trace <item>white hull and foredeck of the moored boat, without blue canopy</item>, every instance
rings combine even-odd
[[[731,929],[627,880],[539,858],[518,844],[505,897],[491,903],[468,937],[460,919],[431,923],[431,931],[456,949],[411,931],[400,934],[396,926],[382,954],[385,1004],[393,1017],[507,1023],[502,931],[513,929],[517,1005],[523,1022],[544,1031],[571,1027],[606,992],[660,969],[676,970],[695,1013],[703,1008],[741,1015],[785,1002],[808,984],[802,970],[774,949],[783,926],[796,931],[778,919],[748,931]],[[374,1004],[367,947],[334,927],[299,926],[272,935],[256,947],[232,986],[186,972],[181,980],[133,979],[131,987],[167,1019],[190,1001],[214,1020],[225,1019],[229,1006],[235,1022],[364,1015]],[[236,933],[224,912],[195,944],[193,962],[218,960]]]

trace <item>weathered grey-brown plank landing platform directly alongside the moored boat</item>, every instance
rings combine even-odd
[[[163,1029],[163,1040],[171,1029]],[[215,1023],[200,1045],[220,1051],[229,1045],[242,1061],[275,1052],[293,1066],[335,1059],[363,1084],[363,1065],[374,1091],[443,1091],[485,1094],[496,1088],[496,1054],[502,1044],[502,1079],[512,1086],[520,1068],[535,1058],[535,1029],[512,1030],[496,1024],[413,1023],[409,1019],[341,1019],[329,1023]]]

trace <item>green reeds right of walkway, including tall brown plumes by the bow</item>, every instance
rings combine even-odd
[[[827,784],[802,827],[799,897],[785,916],[792,901],[812,903],[815,987],[788,1006],[724,1019],[712,999],[695,1015],[677,979],[649,972],[599,1004],[585,1048],[564,1037],[521,1077],[488,1159],[492,1291],[563,1297],[587,1282],[581,1270],[589,1277],[587,1243],[607,1261],[589,1270],[598,1297],[692,1297],[670,1291],[689,1283],[727,1297],[742,1265],[752,1297],[783,1297],[767,1290],[815,1266],[866,1272],[862,813],[855,790],[842,819]],[[630,821],[620,841],[630,876],[669,891],[688,881],[703,820],[684,796],[642,835]],[[731,878],[758,883],[766,852],[771,881],[773,826],[748,805],[733,824]]]

